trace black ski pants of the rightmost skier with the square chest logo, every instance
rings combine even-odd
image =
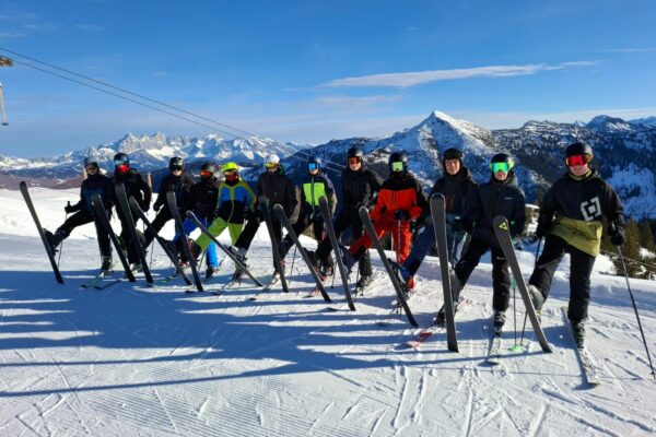
[[[549,234],[544,238],[544,250],[538,258],[536,269],[528,283],[542,292],[546,299],[551,290],[551,281],[555,269],[558,269],[558,264],[565,253],[570,253],[570,306],[567,318],[571,321],[585,320],[590,303],[590,274],[596,257],[570,246],[561,237]]]

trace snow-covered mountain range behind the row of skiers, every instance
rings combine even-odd
[[[184,156],[188,162],[213,160],[236,161],[244,176],[254,180],[261,172],[261,161],[268,153],[283,158],[288,174],[300,181],[305,175],[305,162],[313,154],[324,158],[330,177],[339,187],[344,155],[353,145],[362,146],[370,166],[387,176],[390,151],[403,150],[410,168],[430,188],[442,174],[442,153],[452,146],[465,153],[465,162],[479,181],[490,177],[489,158],[507,151],[515,156],[516,173],[528,201],[535,201],[565,170],[563,151],[573,141],[586,141],[595,150],[596,165],[620,193],[629,215],[653,216],[656,212],[656,117],[625,121],[608,116],[595,117],[587,123],[528,121],[518,129],[487,130],[465,120],[434,111],[419,125],[383,138],[350,138],[333,140],[309,149],[307,145],[280,143],[259,137],[223,140],[206,138],[167,138],[127,134],[124,139],[54,158],[22,160],[0,156],[0,174],[21,177],[68,178],[79,175],[84,156],[97,156],[105,168],[112,168],[116,152],[131,156],[141,170],[155,172],[166,166],[171,156]]]

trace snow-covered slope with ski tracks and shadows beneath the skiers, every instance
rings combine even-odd
[[[63,220],[77,190],[33,189],[46,227]],[[151,213],[152,214],[152,213]],[[151,215],[152,216],[152,215]],[[116,224],[115,224],[116,225]],[[165,228],[171,236],[172,227]],[[223,236],[227,238],[227,236]],[[305,240],[312,245],[309,240]],[[526,248],[520,262],[529,272]],[[290,255],[291,258],[291,255]],[[271,271],[266,229],[254,241],[255,274]],[[288,259],[288,265],[291,259]],[[485,363],[491,324],[491,265],[484,259],[465,288],[457,316],[459,353],[445,335],[418,352],[417,332],[387,319],[394,292],[379,272],[358,310],[330,311],[296,260],[292,293],[273,288],[222,296],[188,295],[143,281],[105,291],[80,284],[99,267],[92,225],[63,245],[66,285],[55,282],[20,192],[0,190],[0,435],[94,436],[637,436],[656,432],[656,381],[649,376],[623,277],[593,276],[587,344],[602,385],[585,385],[563,322],[566,260],[542,320],[554,347],[544,354],[529,330],[529,350]],[[220,288],[230,262],[208,285]],[[171,271],[161,248],[153,271]],[[118,273],[117,273],[118,275]],[[429,258],[410,306],[427,324],[442,304],[440,269]],[[656,350],[656,283],[631,280],[649,347]],[[342,302],[339,282],[328,288]],[[513,307],[506,323],[513,345]],[[517,296],[517,324],[524,319]],[[526,341],[525,341],[526,342]]]

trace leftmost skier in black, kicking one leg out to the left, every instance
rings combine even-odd
[[[99,194],[103,204],[105,205],[105,211],[107,211],[107,215],[110,215],[112,213],[112,179],[104,175],[98,165],[98,161],[92,156],[84,158],[84,170],[86,172],[86,179],[82,181],[82,186],[80,187],[80,200],[74,205],[69,203],[63,206],[67,214],[74,214],[68,217],[63,224],[57,228],[55,234],[44,229],[48,244],[52,248],[52,253],[55,253],[57,246],[68,238],[75,227],[95,221],[95,210],[91,202],[93,194]],[[112,261],[109,235],[97,221],[95,221],[95,227],[98,237],[98,247],[101,249],[101,273],[107,273],[114,265]]]

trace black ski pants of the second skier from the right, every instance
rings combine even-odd
[[[506,260],[500,247],[492,246],[490,243],[473,237],[469,241],[467,251],[456,264],[455,273],[460,281],[460,285],[465,286],[471,272],[478,265],[481,257],[490,250],[492,257],[492,308],[497,311],[508,309],[511,300],[511,273],[508,271],[508,261]],[[459,293],[460,291],[458,291]],[[458,296],[454,296],[454,300]]]

